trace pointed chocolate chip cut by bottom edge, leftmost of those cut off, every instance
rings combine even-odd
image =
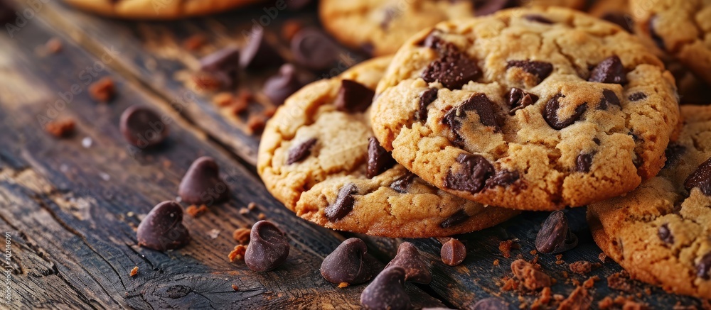
[[[360,306],[370,310],[412,309],[405,292],[405,269],[387,267],[360,294]]]

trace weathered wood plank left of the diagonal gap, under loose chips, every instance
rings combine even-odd
[[[64,40],[63,50],[41,55],[37,48],[55,36]],[[321,260],[343,237],[284,209],[255,175],[168,102],[105,69],[91,80],[112,75],[119,95],[111,104],[94,103],[82,71],[102,62],[41,18],[14,38],[0,35],[0,46],[0,227],[13,232],[14,260],[23,266],[13,276],[14,307],[358,308],[364,285],[338,289],[319,274]],[[77,92],[64,108],[48,111],[73,87]],[[135,150],[122,140],[119,116],[132,104],[151,106],[169,119],[170,137],[159,148]],[[51,138],[38,116],[73,118],[77,133]],[[82,146],[85,138],[92,140],[89,148]],[[193,237],[186,248],[161,253],[138,247],[134,228],[141,216],[174,199],[181,176],[201,155],[219,163],[232,200],[210,206],[199,218],[186,216]],[[252,201],[258,211],[242,216],[239,209]],[[232,231],[260,213],[292,245],[289,259],[274,272],[252,272],[227,259],[235,245]],[[220,231],[216,238],[210,236],[214,229]],[[139,275],[129,277],[134,266]],[[417,306],[442,305],[417,287],[408,284],[408,290]]]

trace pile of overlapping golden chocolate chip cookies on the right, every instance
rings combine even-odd
[[[264,129],[257,169],[288,209],[427,238],[587,206],[633,277],[711,298],[711,107],[680,108],[665,66],[711,82],[710,1],[599,14],[624,28],[561,7],[461,16],[469,1],[409,1],[390,14],[412,16],[370,27],[379,3],[322,1],[321,16],[343,43],[395,55],[307,85]]]

